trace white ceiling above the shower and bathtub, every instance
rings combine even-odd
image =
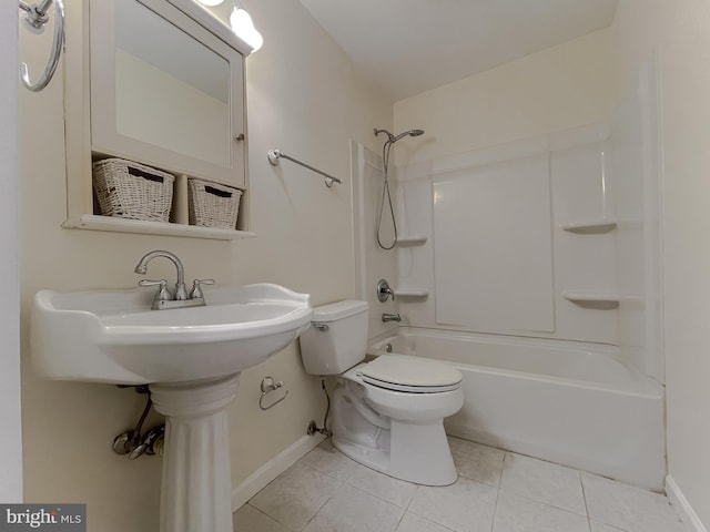
[[[611,24],[618,0],[301,0],[395,101]]]

